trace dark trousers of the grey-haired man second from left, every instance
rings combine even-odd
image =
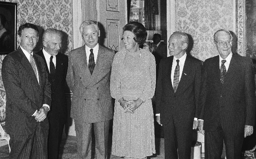
[[[49,115],[49,134],[48,134],[48,159],[59,158],[59,146],[61,144],[64,129],[64,119]]]

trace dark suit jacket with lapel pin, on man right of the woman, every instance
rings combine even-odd
[[[194,117],[197,117],[198,111],[202,62],[187,55],[175,93],[171,82],[172,65],[173,56],[161,59],[156,84],[156,114],[160,113],[163,125],[168,124],[171,114],[182,117],[195,112]]]

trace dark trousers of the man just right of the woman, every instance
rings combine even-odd
[[[192,114],[188,113],[183,117],[179,117],[178,114],[175,117],[171,115],[169,123],[164,125],[165,159],[190,159],[193,132]]]

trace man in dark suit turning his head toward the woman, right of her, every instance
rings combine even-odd
[[[186,33],[174,32],[169,38],[171,56],[160,62],[156,121],[164,128],[165,159],[190,159],[192,131],[198,126],[202,62],[187,55],[188,44]]]

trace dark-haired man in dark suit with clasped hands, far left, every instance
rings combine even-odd
[[[26,23],[19,27],[20,47],[6,55],[2,80],[6,90],[6,131],[10,135],[11,159],[47,159],[51,85],[45,63],[33,49],[38,29]]]

